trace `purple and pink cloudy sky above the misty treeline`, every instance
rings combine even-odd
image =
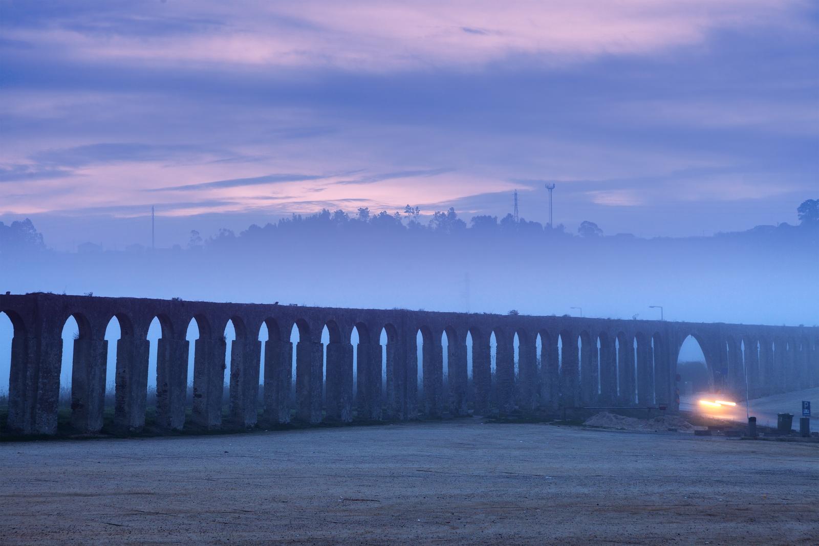
[[[787,0],[0,0],[0,220],[158,243],[323,207],[701,235],[819,197]],[[142,229],[140,227],[139,229]],[[164,238],[163,238],[164,237]]]

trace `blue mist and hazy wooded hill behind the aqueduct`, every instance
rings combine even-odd
[[[3,269],[0,289],[12,293],[532,315],[577,315],[582,308],[588,317],[643,319],[658,319],[659,310],[649,305],[663,305],[666,320],[819,322],[819,229],[813,222],[645,239],[605,236],[593,223],[572,234],[563,226],[515,222],[511,215],[467,223],[455,210],[429,221],[414,211],[360,210],[351,217],[325,210],[238,233],[193,230],[188,241],[170,248],[112,251],[87,242],[75,252],[48,250],[31,223],[4,228],[2,256],[11,267]],[[75,328],[69,322],[66,339]],[[0,327],[4,389],[11,342],[5,316]],[[158,336],[156,325],[152,336]],[[188,337],[196,336],[193,325]],[[112,321],[106,338],[118,337]],[[70,350],[64,353],[67,382]],[[680,359],[701,359],[699,346],[684,345]]]

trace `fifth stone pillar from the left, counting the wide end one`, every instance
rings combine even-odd
[[[224,339],[199,338],[193,345],[193,422],[208,429],[222,424]]]

